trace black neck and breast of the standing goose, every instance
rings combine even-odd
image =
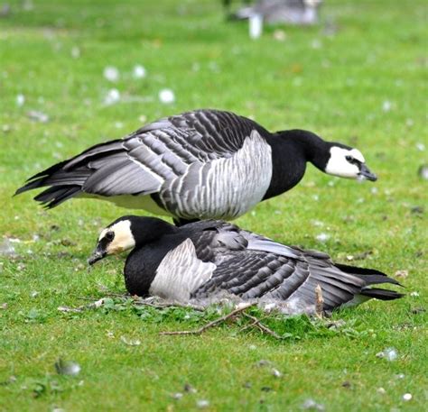
[[[330,158],[330,143],[315,133],[287,130],[273,133],[266,141],[272,149],[273,173],[264,199],[281,195],[299,183],[306,170],[306,162],[324,171]]]

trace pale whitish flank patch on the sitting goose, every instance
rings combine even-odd
[[[191,292],[211,279],[217,266],[200,261],[191,239],[168,252],[156,270],[149,293],[152,296],[188,302]]]

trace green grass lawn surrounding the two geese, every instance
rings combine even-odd
[[[21,243],[14,243],[19,259],[0,256],[0,305],[7,304],[0,309],[0,410],[193,410],[208,399],[213,411],[283,411],[299,410],[308,398],[328,411],[423,410],[427,316],[414,314],[426,307],[428,291],[428,190],[417,175],[427,158],[416,147],[428,146],[423,0],[329,0],[319,26],[286,27],[285,41],[274,40],[274,29],[248,40],[247,24],[225,23],[214,0],[35,1],[32,11],[9,3],[12,13],[0,18],[0,233]],[[333,35],[325,34],[328,22]],[[135,64],[144,65],[146,78],[131,77]],[[116,84],[103,78],[107,65],[121,72]],[[128,101],[103,105],[112,87]],[[175,104],[158,102],[163,87],[174,90]],[[309,129],[363,151],[376,184],[331,179],[310,167],[298,188],[238,224],[337,261],[371,252],[355,263],[391,275],[408,270],[407,296],[334,314],[349,333],[305,318],[285,325],[271,319],[292,334],[284,342],[238,325],[159,336],[208,319],[186,319],[179,309],[143,317],[120,305],[60,313],[57,307],[77,307],[81,298],[103,297],[100,288],[124,291],[122,259],[91,271],[86,259],[98,230],[127,212],[89,200],[46,212],[29,194],[12,198],[14,190],[53,162],[132,132],[142,115],[151,121],[196,107],[251,115],[272,130]],[[49,123],[30,120],[30,110],[49,114]],[[414,213],[414,206],[425,210]],[[316,241],[321,232],[330,234],[326,243]],[[386,347],[397,350],[395,362],[376,357]],[[56,374],[60,357],[79,362],[78,377]],[[283,377],[257,368],[260,360]],[[186,382],[198,392],[174,400]]]

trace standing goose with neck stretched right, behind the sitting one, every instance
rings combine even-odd
[[[70,197],[96,197],[172,215],[177,224],[229,220],[293,188],[308,161],[333,176],[377,179],[361,152],[344,144],[303,130],[269,133],[237,114],[195,110],[61,161],[16,194],[49,187],[34,197],[48,208]]]

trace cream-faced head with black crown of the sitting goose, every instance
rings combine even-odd
[[[111,254],[129,251],[145,243],[151,243],[165,233],[176,230],[175,226],[155,217],[127,215],[119,217],[101,231],[97,246],[88,259],[93,265]]]

